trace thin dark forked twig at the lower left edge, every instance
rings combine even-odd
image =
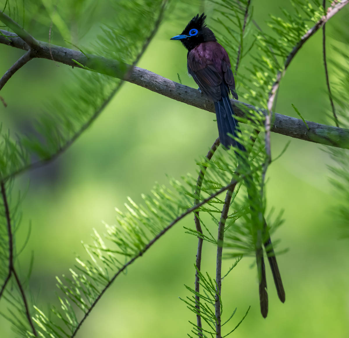
[[[25,314],[27,316],[28,323],[31,326],[31,330],[33,332],[33,335],[35,337],[37,337],[37,332],[35,330],[34,324],[33,324],[32,319],[30,317],[30,311],[28,308],[27,297],[25,296],[21,281],[18,278],[17,272],[16,272],[14,264],[13,264],[13,234],[12,234],[12,227],[11,227],[10,208],[8,205],[6,188],[5,188],[5,181],[2,180],[0,182],[0,186],[1,186],[1,196],[2,196],[3,205],[4,205],[4,209],[5,209],[5,218],[6,218],[6,223],[7,223],[8,245],[9,245],[9,257],[8,257],[9,272],[8,272],[8,276],[5,280],[5,283],[1,288],[0,297],[3,293],[3,291],[5,290],[5,287],[6,287],[8,280],[10,279],[11,275],[13,274],[15,276],[18,288],[20,289],[20,292],[22,295],[22,300],[23,300],[23,304],[25,307]]]

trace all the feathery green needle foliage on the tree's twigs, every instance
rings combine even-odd
[[[40,27],[50,27],[52,24],[55,34],[59,34],[59,39],[71,41],[84,53],[99,54],[118,60],[122,65],[134,64],[139,59],[149,42],[162,5],[163,2],[159,0],[132,0],[117,2],[113,5],[115,6],[113,10],[99,8],[98,10],[105,10],[106,22],[99,30],[96,42],[90,46],[82,46],[80,39],[89,32],[94,23],[93,13],[98,8],[94,1],[66,0],[64,6],[55,6],[51,0],[42,0],[40,5],[37,1],[30,0],[25,3],[23,11],[19,10],[18,5],[12,12],[10,8],[13,7],[8,6],[6,10],[14,20],[23,21],[25,24],[27,23],[25,18],[33,17],[35,13],[38,20],[34,24],[31,23],[33,26],[28,27],[28,31],[37,31],[39,34]],[[237,83],[240,86],[239,92],[243,93],[242,96],[249,103],[267,108],[268,93],[277,74],[284,70],[289,53],[323,14],[319,1],[293,0],[294,13],[290,14],[283,10],[283,18],[270,17],[269,28],[272,31],[270,34],[254,28],[251,1],[210,0],[210,5],[215,9],[218,18],[224,18],[215,19],[215,24],[219,28],[213,27],[213,29],[217,33],[218,40],[230,54]],[[84,11],[86,9],[86,12],[81,8],[84,8]],[[127,15],[130,10],[132,16]],[[107,20],[110,19],[110,13],[113,13],[112,20]],[[247,54],[251,56],[252,61],[248,66],[244,64],[244,67],[251,76],[243,78],[238,72],[238,66],[242,66],[242,60],[247,59]],[[345,53],[342,54],[344,55]],[[344,69],[340,65],[336,66],[340,70]],[[121,68],[122,66],[119,71],[125,73],[126,69]],[[345,70],[347,72],[347,67]],[[343,88],[349,88],[349,78],[343,75],[347,74],[346,72],[342,72]],[[180,80],[179,75],[178,78]],[[64,152],[98,117],[122,83],[121,80],[89,72],[87,69],[74,69],[66,82],[67,85],[62,90],[59,100],[52,98],[45,103],[44,113],[37,122],[36,136],[27,135],[14,141],[9,133],[1,134],[1,182],[35,165],[50,161]],[[343,109],[344,121],[349,108],[345,102],[338,104]],[[228,249],[224,251],[224,256],[238,259],[228,273],[243,256],[255,255],[258,243],[266,239],[259,238],[264,226],[263,218],[267,220],[269,229],[265,234],[272,234],[282,223],[282,212],[276,213],[275,216],[274,209],[267,207],[265,200],[265,182],[262,174],[267,155],[264,139],[258,137],[256,131],[265,131],[264,116],[254,111],[247,111],[246,116],[245,119],[239,118],[247,124],[240,135],[246,153],[238,149],[227,151],[218,149],[212,160],[207,161],[202,157],[197,161],[199,169],[206,168],[200,196],[195,193],[196,178],[192,175],[183,176],[181,180],[170,178],[171,189],[157,184],[149,194],[142,195],[142,204],[136,204],[128,198],[128,202],[125,203],[126,211],[116,209],[116,225],[105,224],[103,235],[94,230],[92,244],[83,243],[88,258],[77,257],[75,266],[69,269],[69,275],[57,277],[57,287],[60,290],[59,307],[52,306],[51,315],[47,315],[38,306],[34,306],[35,313],[31,316],[40,337],[74,337],[96,302],[118,275],[135,259],[142,256],[174,222],[177,222],[176,220],[194,205],[196,199],[206,200],[232,180],[238,183],[232,193],[230,212],[224,229],[225,245]],[[348,154],[341,149],[331,149],[331,154],[340,164],[339,168],[331,167],[331,170],[341,177],[340,181],[332,180],[332,182],[349,203],[348,189],[343,185],[343,182],[349,182]],[[31,162],[33,156],[36,162]],[[8,186],[9,183],[7,181]],[[8,195],[11,196],[10,192]],[[217,245],[216,228],[220,222],[223,205],[224,200],[218,195],[200,206],[197,211],[200,212],[203,234],[188,227],[185,228],[186,232]],[[3,281],[7,276],[9,245],[4,206],[0,205],[0,208],[0,280]],[[348,220],[349,215],[345,207],[340,207],[339,212],[343,220]],[[16,204],[11,209],[13,232],[19,224],[19,218],[16,216],[18,214],[18,204]],[[200,296],[200,314],[207,328],[202,328],[200,332],[200,328],[190,321],[193,325],[192,333],[208,337],[215,335],[216,330],[217,284],[208,274],[205,275],[198,269],[196,271],[200,279],[201,292],[197,293],[186,286],[191,297],[182,300],[194,314],[198,314],[195,296]],[[6,289],[3,297],[9,304],[9,314],[2,315],[13,324],[18,336],[33,337],[22,299],[18,296],[19,292],[20,290],[17,290],[13,293]],[[219,294],[218,296],[222,313],[223,302]],[[246,315],[247,313],[248,310]],[[234,314],[235,311],[222,325],[228,323]],[[245,316],[232,331],[227,332],[226,336],[239,326]]]

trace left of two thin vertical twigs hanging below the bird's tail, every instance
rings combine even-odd
[[[217,150],[217,148],[220,145],[220,139],[219,137],[214,141],[213,145],[211,146],[210,150],[208,151],[206,155],[206,162],[209,162]],[[198,179],[196,180],[196,189],[194,196],[194,204],[198,204],[200,201],[200,193],[201,193],[201,186],[202,186],[202,181],[205,176],[207,167],[203,166],[199,172]],[[200,224],[200,219],[199,219],[199,211],[194,212],[194,222],[195,222],[195,227],[196,231],[202,234],[202,228]],[[197,270],[195,271],[195,308],[198,309],[198,313],[196,314],[196,325],[198,326],[198,331],[199,331],[199,337],[203,337],[202,335],[202,323],[201,323],[201,316],[200,316],[200,296],[198,295],[200,292],[200,278],[199,278],[199,271],[201,270],[201,252],[202,252],[202,244],[203,244],[203,238],[198,236],[198,250],[196,252],[196,268]]]

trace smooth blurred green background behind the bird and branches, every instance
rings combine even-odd
[[[266,27],[268,15],[280,15],[280,6],[290,7],[289,1],[255,1],[254,19]],[[169,15],[138,66],[174,81],[178,81],[178,73],[184,84],[196,88],[187,76],[185,49],[169,38],[179,34],[199,10],[200,6],[193,5],[191,12],[182,13],[183,22],[171,20]],[[335,27],[348,27],[348,14],[348,8],[344,8],[326,26],[329,58]],[[103,21],[98,15],[96,12],[96,22]],[[94,34],[92,28],[84,39],[88,41]],[[48,41],[47,36],[38,38]],[[22,54],[0,45],[0,74]],[[1,90],[8,104],[7,108],[0,105],[5,130],[10,128],[12,134],[25,131],[41,101],[59,95],[70,71],[65,65],[34,59],[16,73]],[[330,80],[336,81],[331,73]],[[306,120],[328,123],[321,32],[292,61],[281,83],[276,112],[297,117],[291,103]],[[115,222],[114,207],[122,208],[127,196],[141,201],[140,194],[150,191],[155,181],[167,184],[165,174],[196,175],[195,159],[206,154],[217,137],[213,119],[211,113],[125,83],[102,115],[63,155],[16,179],[16,188],[27,190],[18,246],[32,222],[30,240],[21,255],[21,271],[25,275],[34,251],[30,287],[41,308],[45,310],[48,302],[56,302],[54,277],[68,274],[75,254],[83,253],[80,242],[91,242],[92,228],[103,233],[102,221]],[[274,157],[289,139],[272,134]],[[251,305],[250,313],[232,336],[349,337],[349,246],[347,240],[340,239],[340,229],[330,213],[339,201],[327,180],[326,165],[331,161],[320,148],[292,139],[287,152],[268,169],[268,207],[285,210],[285,222],[273,239],[281,239],[279,249],[289,248],[278,257],[286,302],[277,299],[267,268],[269,313],[263,319],[257,270],[255,266],[251,269],[254,260],[243,259],[222,285],[223,316],[228,318],[237,307],[230,326],[224,328],[226,333]],[[194,285],[197,239],[185,234],[183,226],[194,226],[192,215],[114,282],[77,337],[177,338],[190,332],[188,319],[195,321],[195,317],[178,297],[189,295],[184,284]],[[215,259],[216,248],[204,243],[202,270],[214,275]],[[223,271],[231,264],[224,261]],[[6,312],[6,306],[1,300],[0,310]],[[15,337],[2,317],[0,328],[1,337]]]

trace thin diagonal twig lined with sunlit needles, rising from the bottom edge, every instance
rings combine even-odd
[[[79,325],[76,327],[76,329],[73,332],[73,335],[71,336],[71,338],[75,337],[77,331],[80,329],[82,323],[85,321],[85,319],[88,317],[88,315],[90,314],[90,312],[92,311],[92,309],[96,306],[97,302],[99,301],[99,299],[101,299],[101,297],[103,296],[103,294],[105,293],[105,291],[110,287],[110,285],[113,283],[113,281],[118,277],[118,275],[124,271],[129,265],[131,265],[137,258],[141,257],[144,252],[148,251],[148,249],[160,238],[162,237],[166,232],[168,232],[168,230],[170,230],[177,222],[179,222],[181,219],[183,219],[186,215],[192,213],[193,211],[195,211],[196,209],[198,209],[199,207],[201,207],[202,205],[206,204],[207,202],[209,202],[211,199],[215,198],[216,196],[218,196],[219,194],[221,194],[223,191],[228,190],[228,189],[233,189],[236,184],[238,183],[237,180],[235,181],[231,181],[228,185],[223,186],[220,190],[216,191],[214,194],[210,195],[209,197],[203,199],[200,203],[192,206],[191,208],[187,209],[184,213],[182,213],[181,215],[179,215],[175,220],[173,220],[167,227],[165,227],[161,232],[159,232],[135,257],[133,257],[132,259],[130,259],[126,264],[124,264],[119,271],[114,274],[114,276],[112,277],[112,279],[108,282],[108,284],[103,288],[103,290],[101,291],[101,293],[98,295],[98,297],[96,298],[96,300],[93,302],[93,304],[91,305],[91,307],[89,308],[89,310],[86,312],[86,314],[84,315],[84,317],[81,319],[81,321],[79,322]]]

